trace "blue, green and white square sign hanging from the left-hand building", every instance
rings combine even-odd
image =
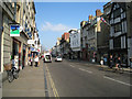
[[[20,36],[20,25],[19,24],[11,24],[10,36]]]

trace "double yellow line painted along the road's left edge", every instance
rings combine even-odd
[[[52,79],[52,76],[51,76],[50,70],[48,70],[48,68],[47,68],[47,65],[45,65],[45,66],[46,66],[48,79],[50,79],[50,82],[51,82],[51,86],[52,86],[54,96],[56,97],[56,99],[59,99],[58,92],[57,92],[57,90],[56,90],[56,88],[55,88],[55,84],[54,84],[54,81],[53,81],[53,79]]]

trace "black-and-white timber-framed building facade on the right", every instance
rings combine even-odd
[[[127,4],[113,2],[109,21],[111,24],[109,41],[110,52],[114,56],[114,58],[120,56],[121,63],[124,64],[124,66],[128,66],[128,47],[130,45],[130,43],[128,42],[128,25],[130,22],[127,19]]]

